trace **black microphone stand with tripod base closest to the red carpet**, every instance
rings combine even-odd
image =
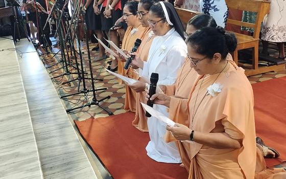
[[[84,15],[84,14],[85,14],[85,11],[82,11],[82,15]],[[85,35],[85,39],[86,39],[86,47],[87,47],[87,55],[88,55],[89,71],[90,71],[90,77],[91,77],[92,90],[89,91],[88,89],[86,89],[85,78],[84,78],[84,73],[83,73],[83,71],[84,71],[83,70],[83,57],[82,57],[82,52],[81,52],[81,47],[80,47],[79,31],[77,31],[76,38],[77,38],[77,42],[78,42],[78,46],[79,46],[79,56],[80,56],[80,59],[81,59],[81,71],[82,71],[82,80],[83,80],[83,90],[81,92],[79,92],[79,93],[66,95],[65,97],[83,93],[85,98],[86,98],[86,100],[87,100],[87,103],[82,105],[82,106],[66,109],[66,112],[68,113],[69,111],[72,111],[72,110],[75,110],[75,109],[79,109],[79,108],[83,108],[83,107],[86,107],[86,106],[90,107],[91,105],[97,105],[100,108],[102,108],[103,110],[105,110],[108,113],[108,115],[113,115],[113,113],[111,111],[109,111],[108,109],[106,109],[105,107],[103,107],[102,105],[99,104],[101,101],[103,101],[105,99],[109,99],[110,96],[104,97],[101,100],[97,100],[97,98],[96,98],[96,91],[102,91],[102,90],[105,90],[107,88],[95,89],[95,87],[94,87],[93,71],[92,71],[92,66],[91,66],[89,44],[88,44],[88,38],[87,38],[87,32],[86,32],[87,29],[86,29],[86,23],[85,23],[84,18],[83,18],[83,23],[84,23],[84,35]],[[89,92],[92,92],[92,95],[93,95],[93,98],[92,98],[91,101],[89,101],[89,99],[88,99],[88,93]],[[63,96],[61,98],[63,98]]]

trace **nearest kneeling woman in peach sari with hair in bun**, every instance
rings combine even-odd
[[[185,119],[187,126],[167,130],[188,141],[188,178],[283,178],[283,169],[265,170],[258,162],[252,87],[244,70],[226,60],[235,47],[235,36],[221,27],[196,31],[187,39],[190,67],[198,73],[188,99],[155,94],[151,100]]]

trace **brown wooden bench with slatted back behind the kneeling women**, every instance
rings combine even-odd
[[[256,75],[260,73],[275,71],[278,65],[269,66],[270,68],[258,69],[258,44],[259,44],[259,33],[261,23],[266,14],[269,13],[270,1],[263,0],[225,0],[229,9],[236,9],[242,11],[257,12],[255,24],[246,23],[239,20],[227,19],[227,23],[236,26],[244,26],[254,29],[253,36],[248,36],[245,34],[234,33],[237,38],[237,47],[233,52],[233,60],[238,64],[237,52],[242,49],[253,48],[252,51],[252,70],[246,71],[246,75]],[[281,69],[281,66],[279,66]]]

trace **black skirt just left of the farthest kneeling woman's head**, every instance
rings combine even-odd
[[[116,11],[112,10],[111,17],[109,18],[104,17],[104,14],[103,14],[104,10],[105,10],[105,7],[102,8],[101,14],[100,14],[101,22],[102,22],[101,28],[103,31],[109,31],[109,29],[114,26],[116,20],[118,20],[118,18],[122,16],[122,10],[120,9],[117,9]]]

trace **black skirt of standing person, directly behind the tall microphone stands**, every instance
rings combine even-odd
[[[86,23],[86,28],[88,30],[101,30],[100,15],[96,15],[96,13],[94,13],[92,4],[90,4],[88,8],[86,9],[84,19]]]

